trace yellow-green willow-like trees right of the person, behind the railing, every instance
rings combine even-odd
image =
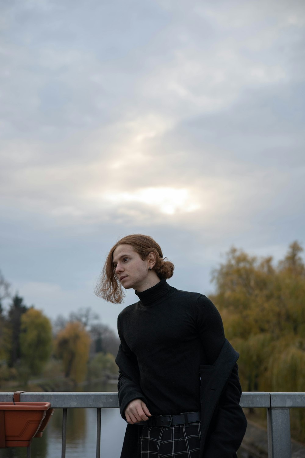
[[[244,391],[305,392],[305,265],[298,242],[276,265],[231,248],[213,272],[210,296],[226,337],[240,353]],[[305,441],[305,409],[291,409],[296,438]]]

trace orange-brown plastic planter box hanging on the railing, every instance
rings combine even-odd
[[[28,447],[50,407],[49,402],[0,402],[0,447]]]

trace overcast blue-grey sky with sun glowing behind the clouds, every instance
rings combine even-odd
[[[0,2],[0,270],[52,320],[148,234],[209,295],[232,245],[304,246],[303,0]]]

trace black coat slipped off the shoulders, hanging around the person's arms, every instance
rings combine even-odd
[[[236,458],[246,431],[246,417],[239,405],[241,386],[236,361],[239,354],[225,339],[214,365],[201,365],[201,428],[200,458]],[[120,373],[132,384],[139,384],[139,374],[120,346],[117,356]],[[119,390],[121,414],[126,406],[128,390]],[[130,399],[131,400],[131,399]],[[127,425],[121,458],[140,458],[139,437],[142,426]]]

